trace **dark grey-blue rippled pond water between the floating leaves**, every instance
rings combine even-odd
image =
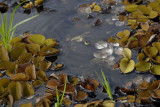
[[[4,0],[0,0],[3,2]],[[15,7],[16,0],[8,0],[11,9],[8,14],[12,12]],[[93,53],[97,51],[95,43],[106,40],[108,37],[115,35],[117,32],[129,29],[126,25],[116,26],[115,22],[109,24],[106,19],[112,19],[115,16],[114,12],[108,14],[94,15],[94,18],[88,19],[86,14],[78,12],[78,6],[83,3],[99,3],[99,0],[46,0],[44,2],[44,10],[40,13],[36,8],[31,10],[30,14],[24,14],[24,10],[19,8],[15,14],[14,22],[17,23],[27,17],[39,14],[39,17],[19,26],[16,30],[16,35],[20,35],[25,31],[45,35],[46,38],[53,38],[59,41],[61,53],[56,62],[65,64],[65,68],[59,73],[67,73],[71,75],[81,75],[85,77],[93,77],[98,80],[94,71],[100,72],[103,69],[107,76],[111,89],[114,90],[116,86],[122,86],[128,81],[141,76],[151,76],[150,74],[137,74],[132,72],[130,74],[121,74],[119,70],[113,70],[113,66],[102,61],[96,60]],[[119,5],[112,7],[113,11]],[[74,17],[78,17],[78,21],[74,21]],[[102,24],[94,26],[96,19],[102,20]],[[85,45],[83,42],[77,42],[72,38],[83,35],[84,40],[90,44]],[[133,54],[134,55],[134,54]],[[116,59],[119,60],[119,59]],[[49,71],[51,74],[54,71]],[[39,92],[43,91],[41,88]],[[106,96],[99,96],[105,98]],[[27,100],[26,100],[27,101]],[[21,101],[22,102],[22,101]],[[16,102],[15,107],[21,102]],[[29,102],[29,101],[28,101]]]

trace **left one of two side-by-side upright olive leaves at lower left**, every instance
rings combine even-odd
[[[13,96],[13,99],[15,101],[21,99],[21,83],[20,82],[12,81],[8,85],[8,91],[9,91],[9,94],[11,94]]]

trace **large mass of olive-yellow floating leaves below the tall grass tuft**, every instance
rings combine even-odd
[[[58,43],[40,34],[29,34],[11,40],[9,52],[0,46],[1,104],[13,105],[21,97],[32,98],[34,87],[48,81],[45,74],[52,62],[46,56],[56,55]],[[10,56],[10,57],[9,57]],[[4,71],[4,73],[2,73]],[[8,76],[7,78],[5,76]]]

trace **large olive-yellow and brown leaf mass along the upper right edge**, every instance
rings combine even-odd
[[[120,31],[116,37],[111,36],[108,39],[109,43],[119,43],[125,48],[120,69],[123,73],[129,73],[135,67],[140,72],[150,71],[154,75],[160,75],[158,70],[160,68],[160,1],[156,0],[146,5],[124,2],[126,10],[125,14],[122,13],[121,15],[125,15],[128,21],[127,25],[131,26],[132,31]],[[133,48],[139,50],[136,64],[125,56],[126,53],[124,54],[124,52],[130,54],[129,49]]]

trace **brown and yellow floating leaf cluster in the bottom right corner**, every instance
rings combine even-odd
[[[155,100],[160,99],[160,81],[155,80],[151,83],[147,81],[142,81],[141,84],[135,86],[135,89],[127,89],[122,87],[121,91],[127,96],[117,98],[118,101],[125,103],[125,100],[128,100],[129,103],[137,104],[151,104]],[[152,98],[152,100],[151,100]]]

